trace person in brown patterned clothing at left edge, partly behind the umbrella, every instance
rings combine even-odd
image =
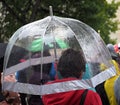
[[[2,91],[3,59],[0,59],[0,105],[20,105],[19,94],[11,91]],[[11,74],[4,78],[4,81],[16,81],[15,75]]]

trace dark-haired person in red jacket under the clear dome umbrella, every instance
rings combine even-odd
[[[48,82],[47,84],[66,82],[71,80],[82,79],[83,72],[85,71],[86,61],[81,51],[74,49],[65,50],[57,65],[58,79]],[[82,100],[82,94],[86,89],[71,90],[67,92],[53,93],[49,95],[43,95],[42,100],[44,105],[80,105]],[[88,89],[87,89],[88,90]],[[86,93],[84,105],[102,105],[99,95],[88,90]]]

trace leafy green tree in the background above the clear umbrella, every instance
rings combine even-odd
[[[42,19],[49,15],[49,6],[53,6],[56,16],[78,19],[96,31],[109,43],[110,33],[117,30],[116,11],[120,3],[108,4],[106,0],[0,0],[0,39],[8,40],[22,25]],[[113,41],[114,42],[114,41]]]

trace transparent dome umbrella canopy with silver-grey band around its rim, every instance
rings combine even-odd
[[[14,45],[23,47],[28,53],[17,65],[8,67],[9,62],[15,60],[15,57],[9,59]],[[54,80],[56,70],[52,66],[67,48],[82,49],[89,77],[46,85],[45,82]],[[5,53],[3,90],[45,95],[95,87],[116,74],[111,60],[105,43],[90,26],[76,19],[48,16],[22,26],[10,38]],[[11,74],[17,81],[4,80]]]

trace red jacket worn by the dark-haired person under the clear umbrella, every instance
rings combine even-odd
[[[73,78],[66,78],[61,80],[55,80],[51,83],[64,82],[69,80],[75,80]],[[55,93],[50,95],[44,95],[42,97],[44,105],[79,105],[83,90],[73,90],[69,92]],[[102,105],[99,95],[91,90],[88,91],[84,105]]]

